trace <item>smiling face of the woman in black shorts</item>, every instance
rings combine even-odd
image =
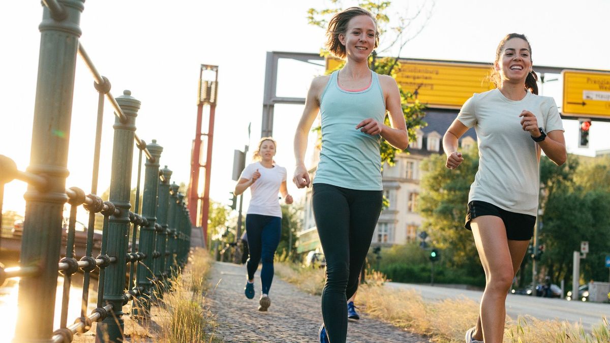
[[[532,71],[531,48],[522,38],[511,38],[504,43],[495,62],[502,81],[523,83]]]

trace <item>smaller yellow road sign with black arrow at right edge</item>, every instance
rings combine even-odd
[[[610,117],[610,72],[562,71],[564,99],[561,113],[574,117]]]

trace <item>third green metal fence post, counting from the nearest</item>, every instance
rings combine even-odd
[[[146,257],[140,261],[137,269],[137,287],[140,297],[134,299],[132,314],[143,319],[150,318],[150,298],[152,291],[153,253],[155,251],[155,223],[157,222],[157,190],[159,189],[159,157],[163,151],[156,140],[146,145],[154,161],[146,159],[144,171],[144,195],[142,198],[142,217],[148,220],[148,226],[140,227],[138,251]]]

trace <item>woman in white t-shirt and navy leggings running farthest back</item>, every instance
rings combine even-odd
[[[262,260],[260,270],[261,295],[259,311],[267,311],[271,305],[269,289],[273,281],[273,256],[278,248],[282,229],[282,209],[278,193],[286,204],[292,204],[292,196],[286,187],[286,168],[273,161],[276,142],[271,137],[263,137],[254,151],[252,164],[242,171],[235,195],[240,195],[250,187],[251,199],[246,214],[249,258],[246,262],[248,280],[244,292],[248,299],[254,298],[254,273]]]

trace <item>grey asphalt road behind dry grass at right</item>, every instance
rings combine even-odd
[[[415,289],[426,300],[466,297],[481,300],[483,292],[454,289],[441,286],[425,286],[420,284],[387,283],[387,286],[400,289]],[[558,319],[569,322],[581,322],[583,328],[591,330],[592,325],[602,323],[601,317],[610,319],[610,304],[586,303],[583,301],[567,301],[562,299],[529,297],[527,295],[509,294],[506,297],[506,313],[517,319],[518,316],[535,317],[540,320]]]

